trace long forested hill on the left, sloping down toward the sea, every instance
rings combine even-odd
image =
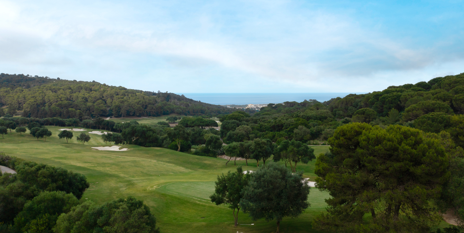
[[[0,106],[26,117],[161,116],[228,114],[236,109],[184,95],[127,89],[98,82],[0,74]]]

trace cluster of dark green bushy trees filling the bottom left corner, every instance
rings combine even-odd
[[[133,197],[96,205],[79,200],[90,187],[84,175],[0,153],[0,232],[154,232],[155,217]]]

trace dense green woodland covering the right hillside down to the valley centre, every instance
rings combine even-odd
[[[361,122],[383,128],[400,124],[427,132],[447,130],[453,141],[463,146],[463,101],[464,74],[460,74],[323,103],[268,104],[252,116],[237,111],[221,116],[221,137],[226,142],[267,138],[272,142],[294,139],[317,144],[327,141],[337,127]]]

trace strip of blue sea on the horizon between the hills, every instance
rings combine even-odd
[[[324,102],[349,93],[176,93],[207,104],[279,104],[285,101],[303,102],[315,99]]]

